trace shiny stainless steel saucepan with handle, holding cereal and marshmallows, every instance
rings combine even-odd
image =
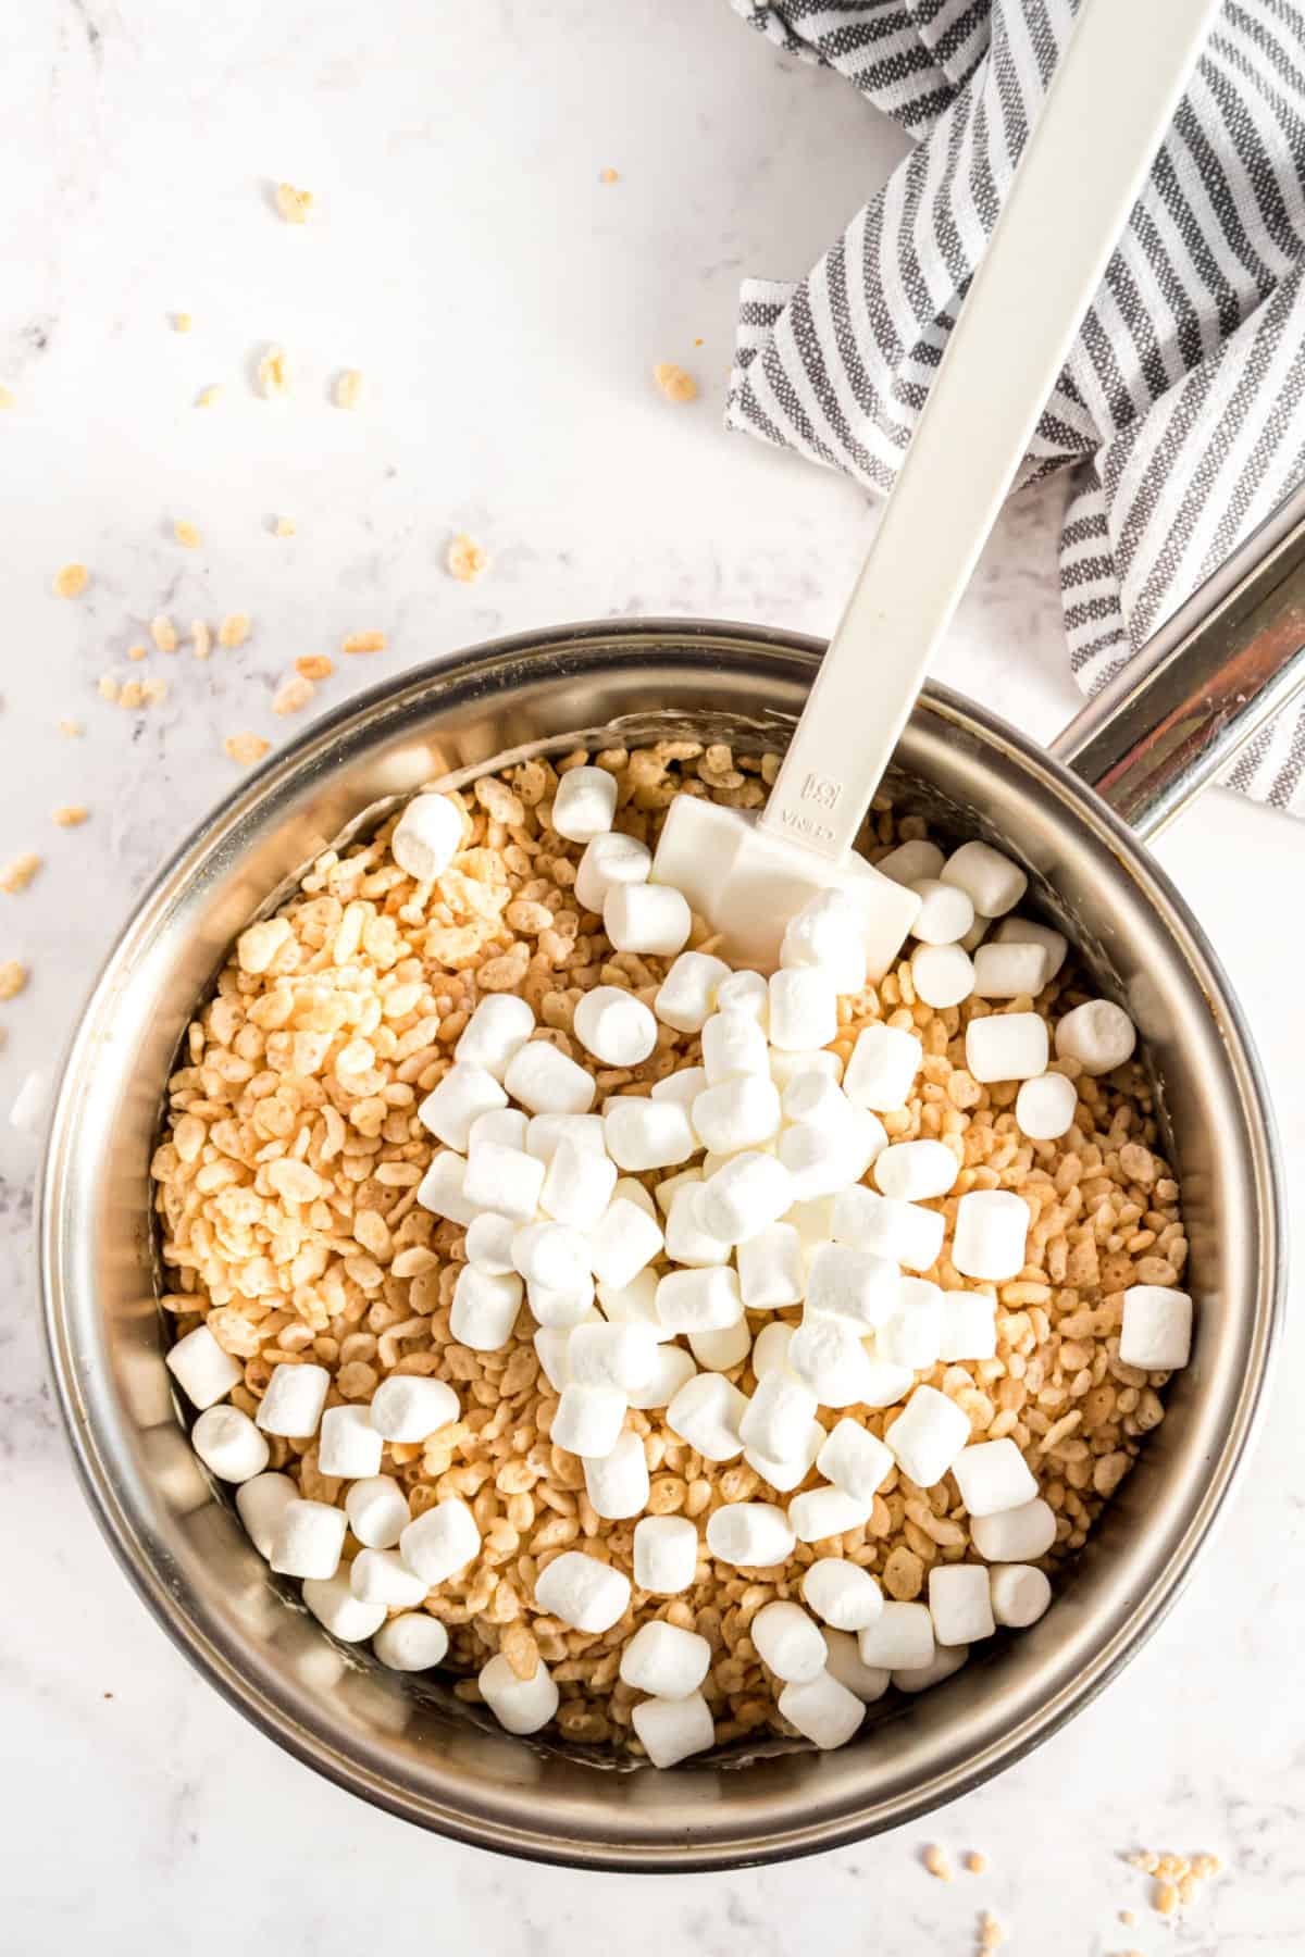
[[[616,1771],[507,1738],[444,1685],[374,1667],[292,1607],[215,1493],[162,1366],[149,1161],[182,1031],[239,930],[380,798],[505,753],[671,730],[783,744],[820,644],[698,622],[585,624],[475,648],[364,695],[231,795],[137,906],[72,1039],[45,1168],[49,1344],[88,1499],[176,1644],[288,1752],[464,1842],[605,1869],[738,1867],[955,1798],[1080,1710],[1182,1587],[1246,1452],[1282,1299],[1272,1115],[1237,1002],[1143,838],[1305,683],[1283,509],[1051,753],[953,693],[920,701],[894,793],[1017,853],[1127,1002],[1184,1182],[1193,1364],[1053,1611],[859,1740],[816,1755]],[[867,683],[867,703],[873,689]],[[869,710],[869,705],[867,705]],[[1131,828],[1129,828],[1131,824]]]

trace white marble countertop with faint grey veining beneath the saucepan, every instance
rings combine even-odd
[[[843,481],[720,427],[743,270],[802,272],[900,139],[835,78],[781,59],[724,0],[18,0],[0,70],[0,1104],[51,1067],[127,904],[235,779],[223,738],[293,724],[292,660],[382,626],[315,705],[470,640],[562,618],[683,613],[828,632],[865,536]],[[620,182],[603,186],[610,164]],[[290,229],[268,186],[311,188]],[[178,309],[190,335],[170,329]],[[702,341],[697,346],[697,341]],[[250,387],[280,341],[290,401]],[[657,360],[702,397],[669,407]],[[342,366],[366,405],[329,403]],[[211,411],[194,399],[225,384]],[[270,532],[290,513],[292,540]],[[203,548],[172,540],[184,517]],[[939,677],[1037,734],[1074,708],[1053,575],[1057,493],[1002,524]],[[444,571],[454,530],[493,554]],[[53,571],[82,560],[84,599]],[[158,611],[254,634],[207,665],[125,650]],[[164,706],[106,705],[106,669],[164,669]],[[84,724],[67,740],[57,722]],[[84,800],[80,830],[51,810]],[[1162,843],[1227,959],[1305,1168],[1305,1061],[1282,888],[1301,828],[1211,795]],[[1289,1031],[1291,1029],[1291,1031]],[[180,1660],[72,1483],[37,1339],[37,1135],[0,1127],[4,1949],[192,1957],[233,1947],[765,1957],[968,1953],[994,1908],[1015,1951],[1285,1953],[1305,1943],[1303,1509],[1291,1382],[1250,1476],[1147,1652],[1064,1734],[920,1828],[816,1863],[679,1881],[532,1869],[423,1838],[313,1779]],[[14,1566],[18,1558],[18,1566]],[[982,1847],[951,1887],[925,1842]],[[1178,1926],[1117,1859],[1211,1849],[1231,1875]],[[634,1890],[638,1889],[638,1898]],[[1137,1926],[1117,1910],[1137,1910]],[[438,1910],[438,1914],[434,1914]],[[616,1912],[620,1916],[616,1918]]]

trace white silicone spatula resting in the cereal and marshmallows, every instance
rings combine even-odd
[[[1219,0],[1084,0],[869,558],[757,818],[675,796],[653,879],[738,963],[832,885],[882,977],[920,898],[851,853]]]

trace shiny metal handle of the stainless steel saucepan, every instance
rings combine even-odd
[[[1150,838],[1301,691],[1305,485],[1147,640],[1051,751]],[[1305,777],[1305,732],[1282,767]]]

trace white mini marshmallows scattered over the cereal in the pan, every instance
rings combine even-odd
[[[638,1067],[661,1022],[700,1035],[702,1063],[595,1114],[593,1076],[532,1037],[530,1006],[485,996],[452,1069],[419,1108],[442,1147],[417,1200],[468,1233],[454,1341],[495,1352],[528,1303],[540,1368],[560,1395],[552,1440],[581,1458],[597,1515],[642,1517],[634,1585],[652,1597],[693,1587],[698,1525],[644,1515],[650,1478],[644,1444],[626,1427],[630,1407],[663,1411],[671,1433],[708,1462],[742,1456],[777,1495],[798,1489],[812,1468],[822,1478],[787,1505],[740,1501],[708,1517],[706,1552],[742,1570],[783,1566],[798,1542],[863,1525],[894,1466],[925,1489],[955,1476],[984,1562],[933,1568],[927,1605],[884,1601],[867,1570],[830,1556],[804,1571],[806,1609],[769,1603],[751,1620],[755,1650],[783,1685],[781,1714],[818,1748],[841,1746],[890,1681],[920,1691],[998,1624],[1043,1615],[1051,1585],[1035,1562],[1055,1540],[1055,1515],[1013,1440],[970,1446],[961,1407],[916,1380],[939,1362],[992,1358],[996,1305],[988,1292],[943,1292],[918,1276],[935,1262],[945,1227],[923,1204],[947,1196],[959,1162],[939,1141],[888,1143],[878,1115],[906,1104],[923,1061],[920,1039],[869,1025],[843,1078],[826,1051],[839,994],[867,980],[863,912],[837,892],[816,896],[788,926],[771,978],[685,951],[689,904],[648,881],[644,843],[612,832],[614,800],[612,777],[593,767],[563,775],[558,789],[554,826],[585,843],[579,902],[603,916],[618,951],[673,963],[652,1010],[610,984],[589,992],[575,1008],[575,1039],[603,1067]],[[393,855],[430,881],[460,838],[458,806],[423,795],[393,834]],[[986,843],[943,859],[933,843],[908,842],[878,869],[920,896],[910,963],[927,1004],[1037,994],[1058,971],[1066,943],[1041,924],[1008,916],[978,943],[1025,890],[1023,873]],[[1057,1053],[1090,1074],[1121,1065],[1133,1045],[1127,1014],[1107,1000],[1074,1008],[1055,1031]],[[967,1029],[970,1072],[1019,1080],[1015,1115],[1039,1141],[1066,1133],[1076,1106],[1072,1082],[1047,1063],[1047,1022],[1035,1012],[992,1014]],[[875,1188],[863,1182],[871,1170]],[[655,1200],[634,1180],[648,1174],[659,1176]],[[1019,1196],[961,1196],[957,1272],[994,1286],[1017,1276],[1027,1229]],[[802,1307],[800,1325],[775,1319],[753,1337],[749,1313],[792,1305]],[[1190,1333],[1184,1292],[1125,1294],[1127,1364],[1182,1366]],[[747,1358],[751,1397],[724,1378]],[[207,1327],[184,1337],[168,1366],[202,1409],[198,1454],[237,1483],[245,1526],[272,1570],[301,1577],[315,1616],[338,1638],[372,1638],[385,1665],[440,1663],[448,1636],[421,1605],[477,1556],[479,1528],[458,1497],[413,1519],[382,1460],[385,1442],[423,1442],[458,1421],[454,1389],[391,1376],[370,1405],[323,1411],[329,1372],[284,1364],[250,1421],[221,1405],[241,1368]],[[898,1403],[884,1440],[857,1419],[826,1431],[816,1417],[820,1407]],[[264,1472],[266,1434],[317,1436],[323,1476],[348,1483],[344,1505],[305,1501],[288,1476]],[[342,1566],[346,1530],[360,1548]],[[630,1577],[585,1550],[556,1556],[534,1595],[542,1613],[591,1636],[610,1630],[630,1601]],[[712,1746],[700,1693],[710,1656],[706,1638],[661,1620],[622,1650],[620,1677],[648,1695],[632,1720],[657,1767]],[[558,1710],[542,1660],[534,1677],[518,1679],[495,1656],[479,1691],[515,1734],[540,1730]]]

